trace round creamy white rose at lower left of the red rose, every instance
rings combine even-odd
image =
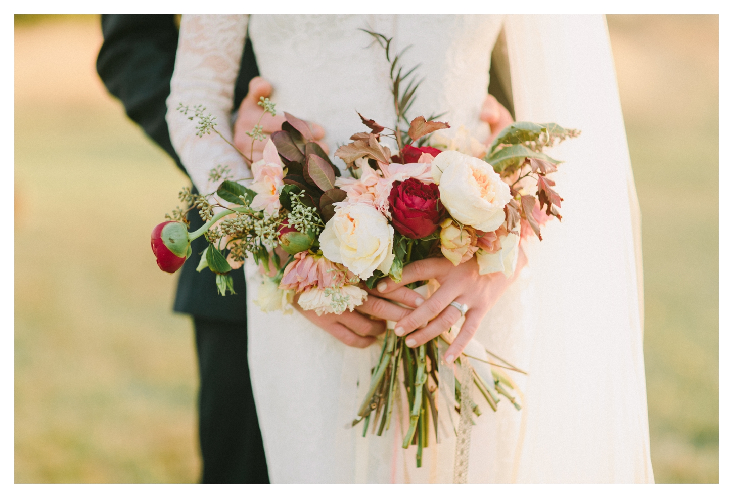
[[[372,205],[356,203],[336,208],[318,241],[325,257],[368,279],[375,270],[389,273],[393,238],[394,228],[382,213]]]

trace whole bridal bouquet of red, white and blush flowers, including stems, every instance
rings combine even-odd
[[[221,180],[216,192],[180,192],[188,209],[198,208],[206,222],[188,232],[185,211],[177,209],[155,227],[151,245],[163,271],[177,271],[191,257],[191,241],[205,236],[209,245],[197,270],[213,271],[221,294],[235,292],[230,273],[252,257],[266,274],[255,301],[262,310],[292,312],[297,302],[318,315],[353,311],[379,279],[399,282],[402,268],[428,257],[446,257],[456,266],[476,257],[480,274],[512,275],[520,239],[532,234],[541,239],[542,225],[561,218],[563,199],[548,177],[559,161],[543,150],[578,132],[554,123],[516,122],[485,147],[463,127],[449,134],[449,124],[438,117],[408,120],[418,84],[413,79],[400,89],[412,71],[402,73],[399,56],[390,53],[391,40],[370,34],[386,48],[391,63],[397,125],[388,128],[359,114],[366,129],[335,153],[347,166],[342,172],[306,122],[284,113],[281,131],[267,139],[262,160],[253,163],[245,157],[253,175],[248,186],[219,166],[210,172],[212,180]],[[269,99],[259,104],[263,116],[275,115]],[[218,133],[215,118],[201,106],[182,105],[180,111],[198,119],[199,136]],[[259,125],[249,134],[253,143],[265,139]],[[468,423],[472,413],[481,411],[470,395],[461,398],[467,385],[473,384],[494,410],[500,395],[520,409],[504,368],[521,370],[492,355],[501,364],[492,364],[486,374],[468,358],[485,360],[463,354],[457,363],[469,373],[469,384],[464,378],[438,389],[441,347],[452,341],[452,334],[409,348],[394,333],[394,324],[388,325],[353,422],[364,421],[364,434],[370,420],[378,435],[389,428],[400,381],[410,413],[403,447],[417,445],[417,466],[428,444],[430,420],[438,434],[438,392],[451,390],[451,409]]]

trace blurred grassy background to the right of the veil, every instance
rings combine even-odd
[[[641,203],[652,465],[718,482],[717,16],[609,16]]]

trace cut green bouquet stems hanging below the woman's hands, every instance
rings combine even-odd
[[[402,447],[407,449],[410,445],[417,445],[416,466],[418,467],[422,465],[422,450],[428,447],[430,420],[432,420],[435,440],[438,441],[437,397],[439,392],[438,365],[440,365],[438,341],[445,341],[446,339],[449,341],[449,336],[444,338],[443,335],[445,334],[441,334],[441,336],[435,337],[435,339],[417,348],[408,348],[405,345],[404,337],[398,337],[394,330],[388,329],[377,364],[372,368],[367,395],[358,409],[356,419],[352,422],[352,426],[354,426],[364,421],[364,431],[362,432],[364,437],[367,436],[369,422],[372,422],[372,433],[376,433],[377,436],[381,436],[384,431],[389,430],[395,398],[397,398],[397,402],[400,399],[397,389],[399,389],[398,373],[401,367],[408,406],[410,407],[410,423],[402,440]],[[456,361],[460,363],[462,360],[468,361],[468,356],[461,355]],[[479,361],[484,360],[479,359]],[[522,372],[522,370],[513,367],[511,364],[507,363],[507,365],[512,370]],[[494,411],[497,409],[499,394],[509,399],[517,410],[521,409],[515,397],[507,390],[512,389],[512,382],[501,373],[501,370],[494,368],[495,366],[504,367],[504,365],[492,364],[493,379],[489,379],[489,381],[479,376],[475,368],[471,367],[474,385]],[[501,384],[504,384],[504,386]],[[457,402],[454,403],[454,409],[460,414],[461,389],[458,381],[455,382],[455,398]],[[482,412],[474,400],[471,400],[471,408],[477,417],[481,415]]]

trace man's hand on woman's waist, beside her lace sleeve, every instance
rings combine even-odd
[[[252,161],[259,161],[262,159],[262,150],[265,149],[265,143],[267,140],[255,140],[254,147],[252,146],[252,137],[247,135],[248,131],[257,125],[259,117],[262,116],[262,107],[258,106],[260,97],[269,97],[273,92],[273,87],[268,83],[265,78],[256,76],[249,81],[249,89],[245,98],[239,106],[239,114],[237,114],[237,120],[234,123],[234,144],[237,149],[241,150],[246,157],[249,157],[250,150],[252,150]],[[286,109],[287,110],[287,109]],[[280,115],[273,116],[271,114],[265,114],[262,116],[262,121],[259,122],[262,125],[262,131],[270,135],[275,131],[278,131],[284,122],[285,118]],[[316,141],[323,139],[325,132],[323,128],[312,122],[308,123],[313,132],[313,136]],[[318,142],[321,148],[328,154],[328,147],[323,142]]]

